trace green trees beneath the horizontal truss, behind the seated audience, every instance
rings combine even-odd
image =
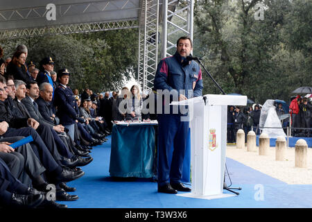
[[[98,33],[28,37],[0,42],[5,56],[12,56],[18,44],[28,47],[27,62],[37,66],[51,56],[54,71],[67,68],[71,88],[94,92],[119,89],[137,66],[138,32],[136,29]]]

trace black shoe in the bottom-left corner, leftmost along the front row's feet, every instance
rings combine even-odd
[[[44,196],[42,194],[29,194],[20,195],[12,194],[11,205],[14,207],[22,208],[35,208],[44,201]]]

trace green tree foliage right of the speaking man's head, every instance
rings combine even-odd
[[[254,19],[256,4],[264,19]],[[205,58],[226,93],[264,103],[288,101],[291,92],[312,85],[311,1],[198,0],[194,54]],[[204,93],[220,93],[204,79]]]

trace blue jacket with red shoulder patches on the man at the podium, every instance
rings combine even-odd
[[[175,100],[174,97],[178,98],[180,93],[187,96],[188,99],[201,96],[202,88],[202,71],[197,62],[188,61],[177,52],[159,62],[154,79],[154,89],[168,89],[171,93],[171,101]],[[181,92],[181,89],[185,91]],[[163,105],[165,104],[168,104],[168,101],[163,101]]]

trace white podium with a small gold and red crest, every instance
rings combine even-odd
[[[205,99],[206,98],[206,99]],[[204,100],[205,99],[205,100]],[[227,148],[227,105],[246,105],[247,96],[207,94],[171,105],[189,105],[191,193],[193,198],[223,198]]]

